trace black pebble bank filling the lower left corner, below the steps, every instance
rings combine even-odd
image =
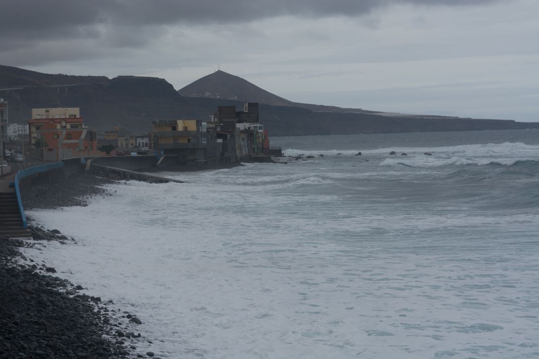
[[[88,298],[64,294],[65,280],[17,264],[17,247],[33,243],[0,238],[0,358],[126,358],[106,340],[112,327]]]

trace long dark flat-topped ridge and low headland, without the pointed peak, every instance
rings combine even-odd
[[[15,121],[29,119],[32,108],[79,107],[85,123],[100,132],[122,125],[132,133],[148,132],[153,120],[204,121],[218,106],[241,108],[245,101],[239,100],[239,95],[238,100],[182,96],[161,78],[127,75],[109,79],[104,76],[44,74],[2,65],[0,98],[8,101],[9,119]],[[22,112],[13,111],[13,108],[20,108]],[[288,106],[260,102],[259,108],[260,122],[269,130],[270,136],[539,128],[537,122],[513,120],[405,117],[342,108],[338,108],[341,111],[317,111],[294,102]]]

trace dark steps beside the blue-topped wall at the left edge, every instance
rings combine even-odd
[[[0,192],[0,237],[32,237],[30,231],[23,227],[15,192]]]

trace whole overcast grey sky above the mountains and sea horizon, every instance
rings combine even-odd
[[[539,121],[539,0],[6,0],[0,64],[217,69],[292,101]]]

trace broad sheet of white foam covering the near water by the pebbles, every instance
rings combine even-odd
[[[256,169],[289,169],[279,166]],[[218,183],[215,172],[201,172],[185,184],[107,185],[116,190],[113,200],[94,197],[87,207],[29,211],[78,244],[51,242],[25,248],[25,255],[137,314],[145,337],[136,343],[140,354],[463,358],[469,343],[482,357],[534,353],[535,316],[523,316],[535,314],[537,255],[508,250],[516,244],[503,240],[513,240],[514,223],[535,233],[535,213],[417,215],[380,212],[362,201],[320,211],[298,203],[305,197],[248,190],[259,177],[236,171],[243,184],[226,172]],[[340,212],[351,216],[335,218]],[[459,250],[459,234],[496,226],[505,235],[484,234],[489,241],[476,243],[478,252]],[[358,243],[368,236],[377,240]],[[445,245],[452,250],[425,249]],[[459,300],[464,295],[471,299]],[[514,344],[501,346],[508,336]]]

